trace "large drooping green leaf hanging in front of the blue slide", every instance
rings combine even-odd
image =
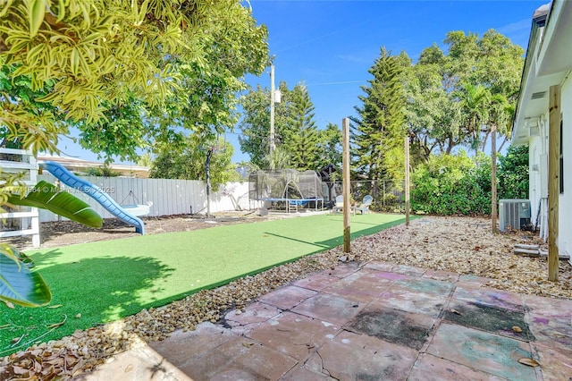
[[[10,195],[8,202],[13,205],[47,209],[56,215],[91,227],[103,225],[101,216],[92,207],[89,207],[88,203],[71,193],[58,189],[49,182],[38,182],[24,198],[19,195]]]

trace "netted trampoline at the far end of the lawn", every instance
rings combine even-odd
[[[322,181],[314,171],[257,171],[248,176],[248,198],[290,213],[300,208],[324,208]]]

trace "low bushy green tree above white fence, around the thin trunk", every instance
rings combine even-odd
[[[156,179],[206,180],[206,156],[210,157],[210,183],[214,190],[226,182],[240,180],[236,166],[232,165],[233,148],[223,139],[205,141],[198,134],[191,135],[182,144],[164,145],[156,153],[149,177]]]

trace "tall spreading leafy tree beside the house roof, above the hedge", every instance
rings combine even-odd
[[[425,161],[460,145],[484,148],[493,125],[506,141],[524,64],[523,49],[495,30],[451,31],[444,42],[446,51],[425,48],[405,86],[413,154]]]

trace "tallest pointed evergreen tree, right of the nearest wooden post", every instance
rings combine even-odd
[[[352,156],[355,173],[371,180],[372,191],[376,193],[379,180],[403,178],[406,136],[403,60],[383,47],[368,72],[374,79],[362,87],[365,95],[359,100],[363,106],[356,106],[358,116],[351,118]]]

